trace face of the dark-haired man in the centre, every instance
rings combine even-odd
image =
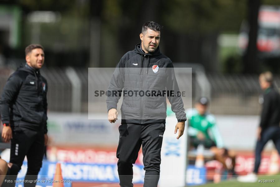
[[[147,29],[145,33],[140,34],[140,40],[142,41],[142,49],[145,53],[153,53],[159,46],[160,31],[153,31]]]

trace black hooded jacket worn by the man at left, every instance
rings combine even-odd
[[[3,123],[12,129],[27,128],[47,133],[47,80],[27,64],[21,65],[7,80],[0,99]]]

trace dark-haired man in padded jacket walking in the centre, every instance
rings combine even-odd
[[[117,148],[118,174],[122,187],[133,186],[132,164],[142,145],[145,170],[144,186],[156,187],[160,172],[160,151],[165,130],[166,97],[178,123],[177,139],[183,135],[186,113],[175,78],[172,61],[159,50],[161,26],[147,22],[140,33],[141,43],[120,60],[107,90],[109,122],[118,116],[121,106],[120,139]]]

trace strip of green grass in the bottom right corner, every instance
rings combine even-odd
[[[259,175],[259,180],[274,180],[273,183],[241,183],[236,180],[221,181],[218,184],[209,183],[206,185],[199,185],[199,187],[273,187],[280,186],[280,173],[278,175]]]

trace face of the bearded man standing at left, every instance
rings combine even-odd
[[[25,57],[26,63],[35,69],[40,69],[45,61],[44,51],[40,48],[33,49]]]

